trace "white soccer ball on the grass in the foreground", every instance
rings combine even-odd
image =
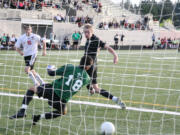
[[[103,122],[101,124],[101,134],[102,135],[113,135],[115,132],[115,127],[111,122]]]

